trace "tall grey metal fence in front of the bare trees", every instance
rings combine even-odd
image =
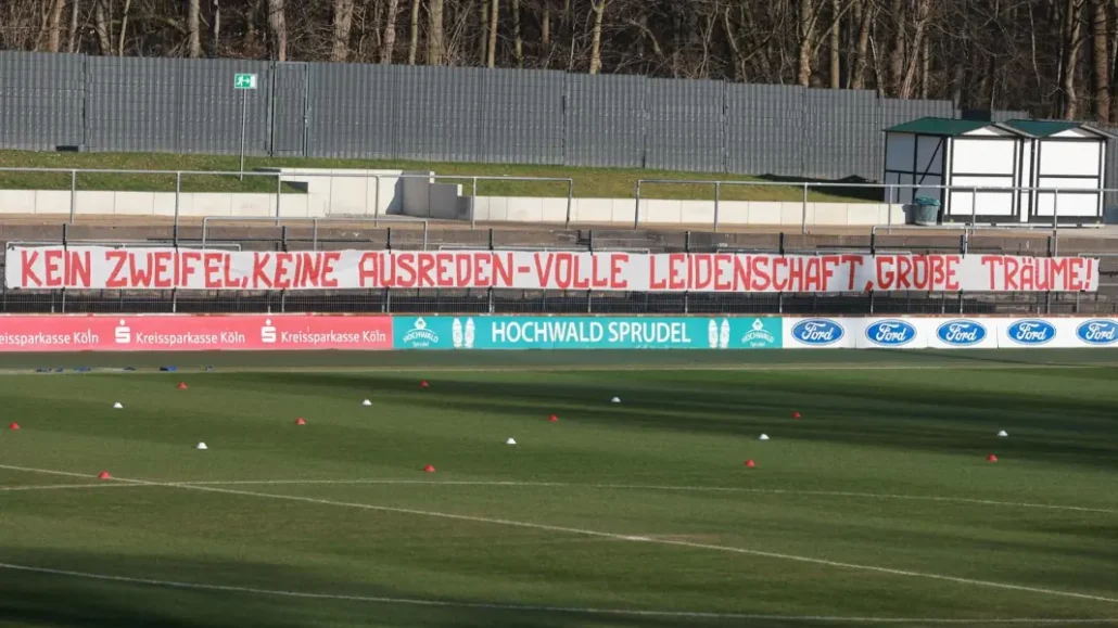
[[[238,73],[257,88],[235,91]],[[0,51],[0,149],[236,154],[244,131],[254,155],[875,180],[882,129],[958,115],[788,85]],[[993,113],[1012,117],[1027,114]]]

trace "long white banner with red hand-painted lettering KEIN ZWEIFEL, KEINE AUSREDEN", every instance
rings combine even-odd
[[[10,247],[23,289],[517,288],[598,292],[1095,292],[1087,257],[618,251],[227,251]]]

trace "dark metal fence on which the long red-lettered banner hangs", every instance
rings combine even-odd
[[[514,231],[433,230],[429,226],[376,230],[330,230],[319,226],[281,226],[257,237],[222,239],[216,228],[200,237],[179,238],[180,247],[241,250],[435,250],[476,248],[492,250],[627,250],[636,253],[770,253],[822,255],[833,253],[960,253],[967,255],[1038,255],[1032,242],[1008,248],[997,238],[975,238],[983,228],[968,228],[958,237],[925,238],[913,244],[912,231],[866,229],[863,236],[845,238],[847,246],[813,244],[794,235],[752,235],[741,245],[716,234],[681,234],[679,238],[639,238],[626,231],[574,231],[574,239],[518,240]],[[196,229],[197,230],[197,229]],[[94,244],[67,237],[63,226],[54,244]],[[463,237],[466,234],[467,237]],[[49,240],[49,239],[48,239]],[[168,246],[170,238],[149,239],[135,246]],[[1100,258],[1101,285],[1097,293],[614,293],[593,291],[523,289],[399,289],[369,291],[21,291],[0,292],[0,313],[396,313],[396,314],[1118,314],[1118,254],[1076,250],[1059,235],[1041,240],[1042,256],[1088,255]],[[27,242],[9,242],[27,244]],[[47,244],[38,241],[36,244]],[[101,244],[101,242],[98,242]],[[127,246],[127,245],[124,245]],[[1008,246],[1013,246],[1011,242]],[[1064,250],[1067,249],[1067,250]],[[2,272],[2,264],[0,264]]]

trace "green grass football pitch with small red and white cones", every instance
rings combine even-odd
[[[6,355],[0,626],[1118,622],[1115,364]]]

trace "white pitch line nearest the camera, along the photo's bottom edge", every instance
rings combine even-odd
[[[852,622],[852,624],[960,624],[960,625],[996,625],[996,624],[1055,624],[1055,625],[1087,625],[1087,624],[1114,624],[1116,619],[1055,619],[1055,618],[1002,618],[1002,619],[955,619],[955,618],[892,618],[892,617],[837,617],[837,616],[784,616],[784,615],[748,615],[737,612],[689,612],[673,610],[636,610],[616,608],[577,608],[558,606],[530,606],[530,605],[501,605],[486,602],[464,602],[449,600],[425,600],[417,598],[386,598],[379,596],[345,596],[339,593],[306,593],[301,591],[284,591],[273,589],[257,589],[253,587],[235,587],[229,584],[206,584],[200,582],[178,582],[174,580],[155,580],[149,578],[129,578],[124,575],[111,575],[106,573],[89,573],[84,571],[69,571],[64,569],[48,569],[42,567],[29,567],[0,562],[0,569],[22,571],[29,573],[44,573],[48,575],[65,575],[68,578],[84,578],[87,580],[102,580],[108,582],[123,582],[126,584],[144,584],[149,587],[165,587],[169,589],[188,589],[202,591],[225,591],[230,593],[253,593],[258,596],[275,596],[283,598],[301,598],[311,600],[340,600],[353,602],[376,602],[390,605],[408,605],[437,608],[472,608],[484,610],[508,610],[520,612],[567,612],[572,615],[614,615],[627,617],[673,617],[680,619],[745,619],[745,620],[779,620],[779,621],[828,621],[828,622]]]

